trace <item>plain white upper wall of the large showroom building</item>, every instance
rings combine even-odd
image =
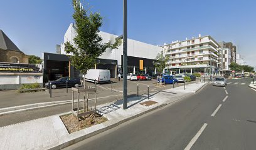
[[[64,42],[66,41],[73,41],[73,37],[75,37],[76,32],[73,28],[73,24],[70,24],[68,27],[67,32],[64,36]],[[100,31],[99,35],[102,37],[102,42],[109,42],[112,43],[115,41],[115,37],[117,35],[109,34],[107,32]],[[147,44],[144,42],[139,42],[133,39],[127,39],[127,55],[134,56],[138,58],[147,58],[147,59],[156,59],[156,55],[161,51],[161,47],[154,46],[152,44]],[[122,56],[122,45],[119,46],[117,49],[106,49],[105,53],[102,54],[99,58],[102,59],[114,59],[117,60],[118,65],[122,64],[121,56]],[[66,54],[64,51],[63,44],[61,44],[61,54]]]

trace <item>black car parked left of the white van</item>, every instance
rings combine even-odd
[[[60,79],[56,79],[55,81],[50,81],[51,83],[51,88],[56,89],[56,88],[65,88],[67,86],[68,82],[68,87],[79,87],[81,84],[81,81],[79,78],[75,77],[62,77]],[[45,83],[45,88],[49,88],[49,83]]]

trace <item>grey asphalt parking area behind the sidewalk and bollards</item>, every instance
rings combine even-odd
[[[110,101],[117,101],[122,99],[123,93],[123,79],[112,78],[111,83],[97,84],[97,99],[98,104],[108,103]],[[186,84],[195,83],[198,81],[191,81]],[[85,83],[86,86],[95,86],[94,83]],[[137,86],[139,86],[139,95],[147,94],[147,86],[149,86],[149,93],[155,91],[161,91],[163,89],[173,88],[173,84],[166,84],[164,86],[157,86],[156,79],[151,81],[129,81],[127,80],[127,92],[128,96],[137,96]],[[184,83],[175,84],[174,87],[184,86]],[[113,88],[113,89],[112,89]],[[54,102],[54,101],[67,101],[72,99],[71,88],[52,89],[52,97],[48,90],[36,92],[36,93],[18,93],[17,91],[0,91],[0,108],[6,108],[11,106],[19,106],[24,104]],[[89,101],[93,100],[94,94],[89,95]],[[77,99],[77,94],[75,94]],[[83,93],[80,93],[80,99],[83,99]]]

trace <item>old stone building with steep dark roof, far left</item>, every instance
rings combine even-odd
[[[13,41],[0,30],[0,63],[28,63],[28,58],[29,56],[19,50]]]

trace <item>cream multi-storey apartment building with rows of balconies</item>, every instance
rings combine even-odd
[[[210,75],[219,73],[220,45],[211,36],[192,37],[185,41],[174,41],[161,46],[169,56],[166,71],[171,74],[201,73]]]

